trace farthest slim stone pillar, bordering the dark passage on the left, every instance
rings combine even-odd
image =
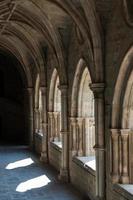
[[[33,150],[34,138],[33,138],[33,88],[27,88],[28,98],[29,98],[29,146]]]

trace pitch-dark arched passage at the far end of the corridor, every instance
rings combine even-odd
[[[26,96],[20,63],[0,52],[0,143],[27,144]]]

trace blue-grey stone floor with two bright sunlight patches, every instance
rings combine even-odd
[[[52,167],[43,166],[26,147],[0,147],[0,200],[81,200],[61,184]]]

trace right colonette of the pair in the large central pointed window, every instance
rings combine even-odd
[[[78,156],[83,156],[83,118],[77,118],[78,125]]]

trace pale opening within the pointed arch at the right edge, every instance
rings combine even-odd
[[[129,168],[129,183],[133,183],[133,70],[127,81],[126,91],[122,106],[121,129],[126,130],[127,149],[127,165]],[[124,136],[123,136],[124,137]]]

